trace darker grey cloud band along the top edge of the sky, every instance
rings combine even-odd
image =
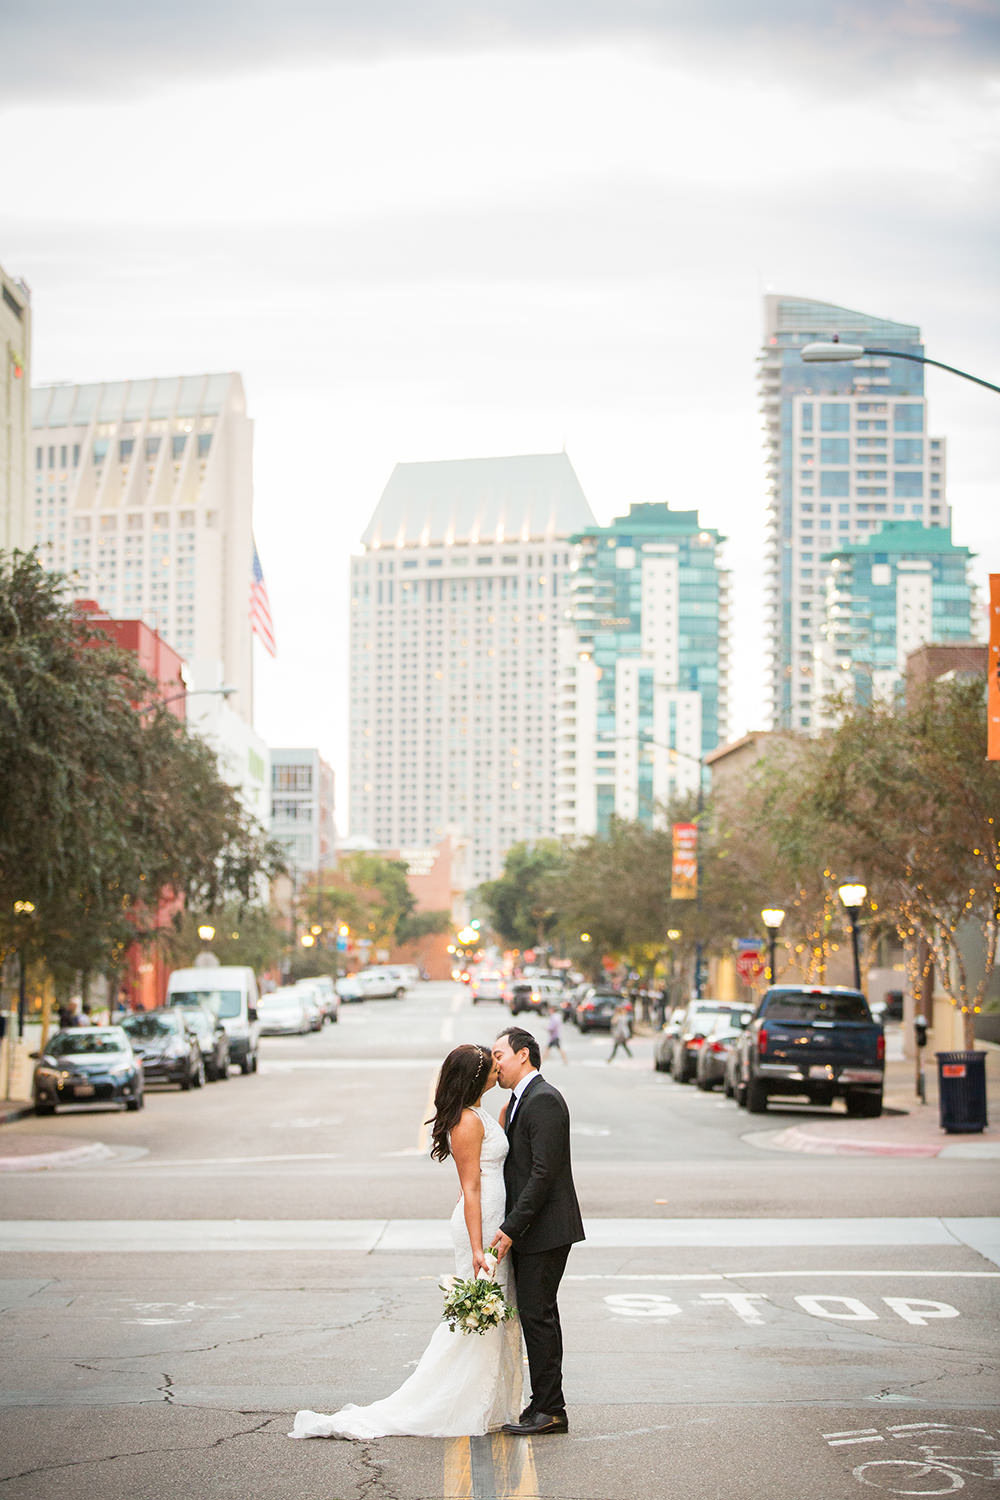
[[[838,93],[996,76],[1000,64],[994,0],[7,0],[6,10],[7,99],[141,93],[303,60],[594,44],[762,78],[811,72]]]

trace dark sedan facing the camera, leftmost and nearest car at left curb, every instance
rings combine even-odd
[[[60,1104],[124,1104],[142,1108],[142,1064],[121,1026],[55,1032],[37,1059],[31,1083],[36,1114]]]

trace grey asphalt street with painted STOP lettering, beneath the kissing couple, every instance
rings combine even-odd
[[[571,1028],[568,1437],[288,1442],[420,1356],[456,1197],[436,1062],[507,1018],[450,986],[340,1017],[258,1077],[60,1113],[105,1160],[4,1173],[0,1500],[997,1496],[996,1162],[768,1150],[810,1112],[750,1120]]]

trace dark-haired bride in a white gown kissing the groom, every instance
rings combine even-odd
[[[462,1278],[492,1270],[483,1250],[504,1218],[507,1136],[483,1095],[496,1083],[487,1047],[462,1046],[441,1065],[435,1092],[430,1155],[454,1158],[462,1194],[451,1215],[454,1269]],[[496,1281],[513,1298],[510,1257]],[[478,1437],[517,1420],[520,1406],[520,1323],[508,1318],[486,1334],[457,1334],[439,1323],[412,1376],[372,1406],[345,1406],[333,1416],[297,1412],[289,1437]]]

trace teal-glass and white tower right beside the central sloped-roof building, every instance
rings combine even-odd
[[[631,506],[574,536],[562,630],[559,832],[652,826],[729,728],[729,573],[696,510]]]

